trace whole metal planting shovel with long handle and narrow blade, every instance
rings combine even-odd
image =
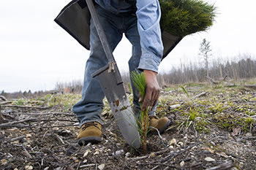
[[[102,43],[105,55],[108,58],[108,65],[103,66],[91,76],[99,78],[102,90],[108,99],[111,111],[113,112],[113,116],[115,117],[118,128],[124,136],[124,139],[130,146],[138,148],[140,147],[138,125],[136,123],[135,115],[132,112],[132,107],[129,104],[127,94],[125,93],[121,74],[116,65],[113,53],[110,50],[105,32],[99,23],[99,17],[94,4],[91,0],[86,0],[86,3],[97,29],[97,33],[99,34],[99,39]]]

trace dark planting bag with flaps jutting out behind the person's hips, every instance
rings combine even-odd
[[[91,15],[84,0],[73,0],[61,10],[55,22],[73,36],[80,45],[90,50],[90,19]],[[180,42],[182,36],[173,36],[167,31],[162,31],[164,45],[163,58]]]

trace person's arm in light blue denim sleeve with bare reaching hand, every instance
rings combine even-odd
[[[157,104],[160,93],[157,72],[163,51],[159,26],[161,9],[158,0],[139,0],[137,9],[142,51],[138,69],[142,69],[146,77],[146,94],[141,109],[145,110],[146,107],[154,107]]]

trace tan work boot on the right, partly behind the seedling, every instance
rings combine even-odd
[[[149,116],[149,127],[157,128],[159,133],[162,134],[170,125],[170,120],[167,117],[158,118],[157,116]],[[152,128],[152,133],[157,133],[157,130]]]

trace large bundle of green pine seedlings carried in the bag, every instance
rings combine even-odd
[[[173,36],[206,31],[213,25],[216,7],[200,0],[160,0],[162,30]]]

